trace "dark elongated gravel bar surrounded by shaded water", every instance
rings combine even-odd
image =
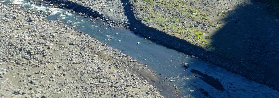
[[[220,91],[224,91],[223,85],[221,84],[219,79],[213,78],[212,76],[208,76],[207,74],[203,74],[202,72],[200,72],[198,70],[191,69],[191,72],[194,73],[194,74],[198,74],[198,75],[202,76],[202,77],[199,77],[199,78],[202,79],[207,84],[214,87],[215,89],[220,90]]]

